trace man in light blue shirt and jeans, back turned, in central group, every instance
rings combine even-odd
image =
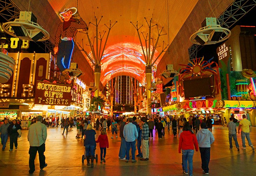
[[[129,150],[132,148],[132,162],[135,163],[135,143],[138,138],[138,131],[136,126],[132,123],[133,118],[129,118],[129,123],[124,125],[123,128],[123,137],[126,141],[126,160],[125,162],[128,163],[130,156],[129,156]]]

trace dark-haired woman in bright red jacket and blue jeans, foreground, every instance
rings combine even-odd
[[[183,163],[184,163],[184,174],[188,174],[193,176],[193,155],[194,155],[194,146],[196,152],[198,151],[198,143],[196,139],[196,135],[193,133],[189,124],[185,124],[183,126],[183,132],[180,135],[180,141],[178,145],[178,153],[183,155]]]

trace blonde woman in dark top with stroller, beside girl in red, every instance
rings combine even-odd
[[[96,131],[93,129],[92,124],[88,124],[87,129],[85,131],[85,141],[84,141],[84,146],[86,150],[86,160],[87,160],[87,165],[93,168],[93,160],[94,160],[94,151],[96,147]],[[91,157],[91,164],[90,164],[90,159],[89,156]]]

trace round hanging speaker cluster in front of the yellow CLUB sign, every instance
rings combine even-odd
[[[50,35],[39,24],[37,18],[32,12],[20,12],[19,19],[2,24],[4,31],[21,40],[41,42],[47,40]]]

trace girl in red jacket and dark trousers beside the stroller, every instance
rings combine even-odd
[[[108,148],[108,136],[105,129],[101,130],[101,133],[96,143],[100,143],[100,163],[102,163],[102,160],[103,162],[106,163],[105,157],[106,157],[106,148]],[[104,151],[104,156],[102,158],[103,151]]]

